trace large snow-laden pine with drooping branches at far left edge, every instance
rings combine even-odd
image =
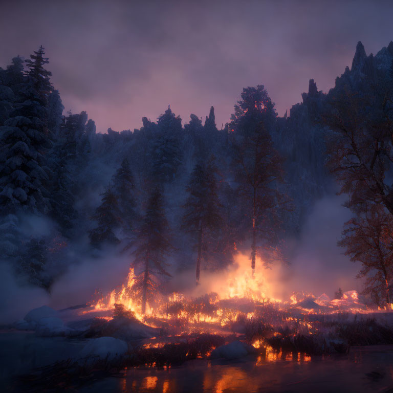
[[[43,65],[48,59],[42,47],[26,60],[28,71],[18,92],[10,118],[0,127],[0,205],[13,212],[49,210],[49,169],[46,153],[51,146],[48,131],[48,96],[51,73]]]

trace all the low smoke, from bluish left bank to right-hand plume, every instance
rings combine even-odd
[[[193,269],[174,273],[166,291],[178,291],[192,297],[209,292],[217,292],[222,297],[230,293],[241,297],[242,291],[261,290],[266,297],[282,300],[289,300],[293,292],[313,293],[316,296],[326,293],[332,297],[339,287],[343,291],[359,291],[361,282],[356,280],[359,266],[343,255],[344,249],[337,247],[343,224],[351,216],[351,212],[341,206],[342,202],[343,198],[331,196],[313,206],[300,238],[291,241],[289,266],[277,261],[271,269],[266,269],[262,261],[257,260],[255,280],[252,281],[250,253],[239,252],[235,263],[227,269],[202,271],[201,285],[198,287],[194,285]],[[29,228],[33,228],[35,234],[46,234],[51,230],[51,222],[37,220],[27,217],[21,228],[26,234]],[[22,285],[15,279],[9,265],[0,264],[0,296],[3,300],[0,304],[0,323],[21,319],[29,310],[43,304],[62,309],[89,302],[96,291],[107,294],[127,277],[130,257],[114,255],[113,249],[91,256],[88,249],[74,246],[70,247],[69,254],[74,254],[75,260],[69,262],[50,294]]]

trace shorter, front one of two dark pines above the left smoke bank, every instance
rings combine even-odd
[[[120,240],[115,235],[115,230],[121,226],[122,219],[116,195],[113,189],[108,188],[102,195],[102,203],[96,209],[93,220],[98,226],[90,232],[90,242],[100,248],[104,244],[116,245]]]

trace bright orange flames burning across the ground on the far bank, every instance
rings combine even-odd
[[[226,271],[201,277],[201,285],[187,296],[182,293],[157,295],[154,305],[147,304],[146,312],[142,313],[141,299],[133,291],[136,276],[133,268],[129,269],[126,282],[106,296],[101,296],[93,309],[85,312],[105,312],[114,310],[121,305],[124,311],[133,315],[145,324],[159,327],[161,322],[170,322],[173,326],[184,329],[187,326],[210,324],[216,328],[230,327],[234,323],[245,323],[251,320],[259,308],[269,304],[276,310],[296,309],[303,315],[330,313],[340,310],[365,312],[365,306],[359,300],[356,291],[343,293],[342,299],[333,299],[323,294],[315,298],[312,294],[293,294],[290,301],[282,301],[274,295],[277,290],[271,270],[265,269],[263,261],[257,259],[254,274],[250,269],[250,259],[247,255],[238,253],[234,266]],[[244,310],[240,312],[239,310]],[[246,310],[247,309],[247,310]],[[108,318],[108,317],[106,317]],[[240,319],[239,319],[240,318]],[[290,322],[290,317],[287,321]],[[160,322],[161,321],[161,322]],[[312,334],[312,324],[298,323]],[[205,326],[204,325],[204,326]],[[226,329],[226,328],[225,328]],[[261,345],[253,343],[253,345]]]

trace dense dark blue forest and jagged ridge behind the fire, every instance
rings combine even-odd
[[[198,285],[237,250],[252,272],[257,257],[259,268],[289,260],[285,239],[338,184],[353,216],[339,246],[359,266],[367,303],[389,305],[392,60],[392,42],[375,57],[359,42],[335,87],[323,94],[311,79],[284,117],[257,85],[225,125],[213,106],[186,122],[168,105],[140,129],[100,134],[86,112],[63,114],[42,46],[14,57],[0,69],[3,259],[22,285],[50,292],[83,255],[126,255],[144,312],[173,276],[193,269],[184,285]]]

